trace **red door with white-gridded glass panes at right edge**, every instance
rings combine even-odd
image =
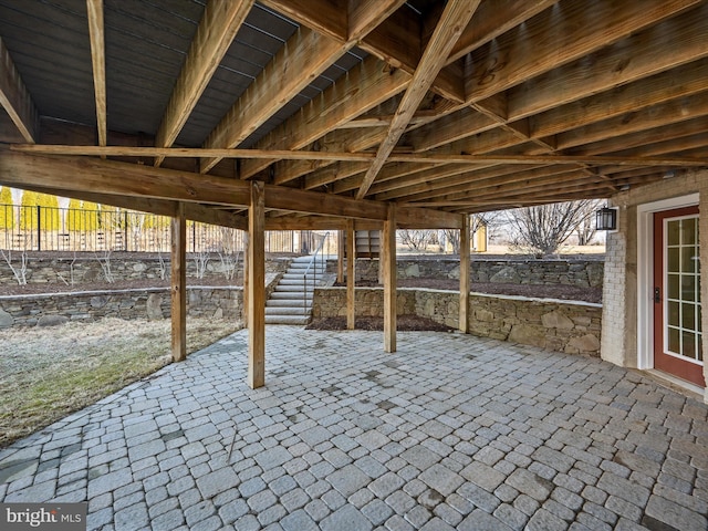
[[[654,366],[705,387],[698,207],[654,215]]]

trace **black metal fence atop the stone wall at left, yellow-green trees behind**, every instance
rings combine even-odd
[[[238,229],[187,221],[188,252],[242,251],[244,238]],[[266,252],[309,253],[322,238],[314,231],[267,231]],[[0,205],[0,249],[169,252],[170,218],[112,207],[86,210]]]

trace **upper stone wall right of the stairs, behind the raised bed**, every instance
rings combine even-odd
[[[458,258],[398,257],[397,278],[459,279]],[[334,264],[336,267],[336,263]],[[334,270],[333,270],[334,271]],[[603,260],[492,260],[472,257],[472,282],[514,284],[570,284],[594,288],[603,283]],[[357,259],[356,280],[378,279],[378,260]]]

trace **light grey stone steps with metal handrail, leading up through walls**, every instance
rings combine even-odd
[[[308,324],[312,316],[312,294],[315,277],[320,280],[326,268],[317,257],[316,266],[308,271],[305,285],[304,273],[312,260],[311,256],[295,258],[288,271],[266,302],[266,324]]]

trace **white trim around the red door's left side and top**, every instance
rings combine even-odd
[[[698,205],[699,195],[637,206],[637,368],[654,368],[654,212]]]

